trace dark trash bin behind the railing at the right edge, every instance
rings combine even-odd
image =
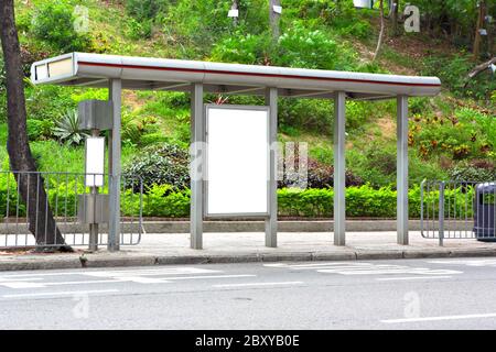
[[[474,233],[478,241],[496,242],[496,183],[475,186]]]

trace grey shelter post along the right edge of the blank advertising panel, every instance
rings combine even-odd
[[[278,89],[267,88],[266,105],[270,108],[269,116],[269,179],[267,187],[268,211],[266,219],[266,246],[276,248],[278,245]]]

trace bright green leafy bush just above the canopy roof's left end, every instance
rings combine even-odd
[[[64,2],[46,1],[37,4],[32,33],[60,53],[85,52],[91,46],[88,34],[74,29],[74,8]]]

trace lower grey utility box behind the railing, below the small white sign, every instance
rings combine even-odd
[[[108,223],[108,195],[78,195],[77,219],[80,223]]]

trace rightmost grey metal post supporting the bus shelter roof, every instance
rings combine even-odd
[[[408,244],[408,97],[397,98],[397,243]]]

